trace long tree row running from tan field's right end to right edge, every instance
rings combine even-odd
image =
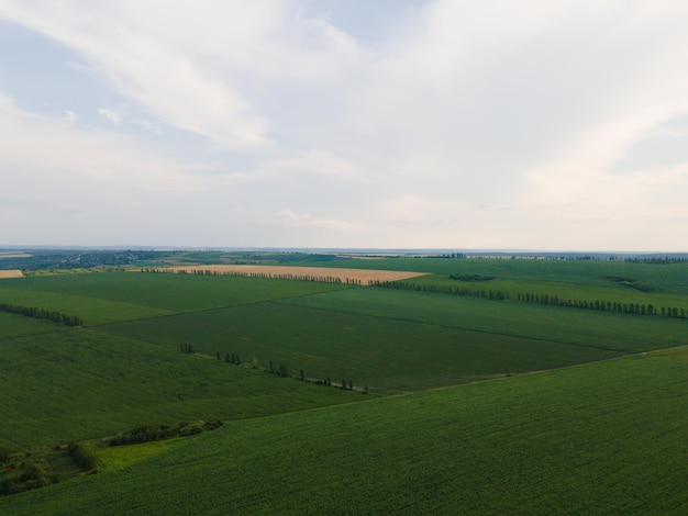
[[[373,281],[373,287],[382,287],[387,289],[413,290],[418,292],[434,292],[441,294],[469,295],[473,298],[482,298],[490,300],[509,300],[509,292],[501,290],[474,290],[469,288],[458,288],[452,285],[435,284],[418,284],[404,281]],[[663,315],[666,317],[686,318],[686,309],[677,306],[662,306],[661,309],[653,304],[643,303],[619,303],[615,301],[603,300],[570,300],[559,299],[558,295],[550,295],[542,293],[517,293],[515,301],[525,303],[544,304],[550,306],[564,306],[570,309],[597,310],[601,312],[615,312],[633,315]]]

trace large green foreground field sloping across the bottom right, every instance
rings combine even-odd
[[[685,514],[686,349],[235,422],[4,514]]]

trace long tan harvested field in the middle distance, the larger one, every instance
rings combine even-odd
[[[170,272],[210,271],[218,273],[246,273],[265,274],[267,278],[279,278],[292,276],[314,278],[337,278],[342,283],[370,284],[371,281],[397,281],[418,276],[425,276],[428,272],[404,272],[397,270],[364,270],[364,269],[330,269],[326,267],[281,267],[281,266],[185,266],[160,269]]]

